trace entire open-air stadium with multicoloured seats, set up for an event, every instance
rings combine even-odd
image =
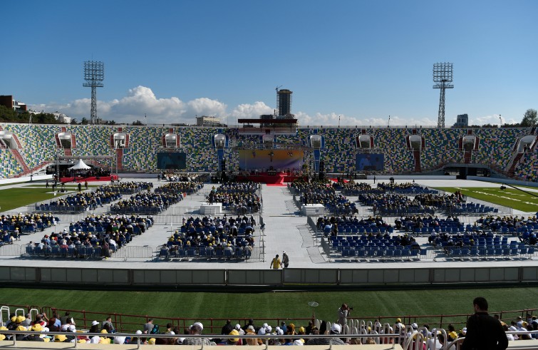
[[[0,280],[21,295],[26,289],[148,296],[219,291],[272,300],[267,292],[295,291],[301,299],[289,297],[288,310],[296,314],[271,314],[267,306],[267,316],[257,319],[306,326],[315,312],[314,324],[330,329],[335,310],[348,302],[363,310],[341,332],[370,334],[379,344],[371,349],[386,349],[391,341],[379,334],[391,334],[397,317],[407,326],[393,344],[410,349],[428,341],[420,335],[424,329],[414,333],[414,323],[434,324],[452,339],[448,324],[465,326],[476,288],[490,291],[490,302],[505,299],[502,293],[532,293],[538,281],[536,128],[239,123],[1,124]],[[270,268],[283,252],[289,267]],[[414,302],[433,309],[450,289],[466,299],[457,307],[448,301],[450,313],[426,308],[402,314],[393,305],[370,314],[357,302],[358,292],[400,289],[428,293],[431,302]],[[19,307],[15,314],[30,312],[32,318],[71,310],[80,329],[113,313],[115,327],[133,335],[149,314],[161,328],[167,321],[180,330],[202,321],[205,334],[220,334],[227,318],[242,324],[251,317],[225,309],[219,318],[197,308],[198,314],[183,311],[190,316],[178,318],[125,304],[86,313],[69,303],[11,299],[4,290],[2,304],[11,305],[3,308],[4,323]],[[332,304],[310,299],[335,294]],[[512,299],[509,307],[505,301],[510,312],[493,305],[490,310],[509,324],[532,315],[536,305],[530,300]],[[509,344],[533,346],[532,340]]]

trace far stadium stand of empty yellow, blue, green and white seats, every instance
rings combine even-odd
[[[56,135],[61,132],[58,125],[26,125],[4,123],[1,127],[16,135],[20,141],[20,153],[30,169],[56,158]],[[76,137],[76,145],[71,149],[74,156],[114,155],[110,137],[117,132],[115,125],[66,125],[66,132]],[[173,132],[180,138],[178,151],[189,154],[187,169],[191,173],[216,172],[219,169],[217,152],[212,146],[214,135],[222,131],[229,138],[229,145],[224,149],[224,158],[228,168],[237,169],[239,165],[239,148],[260,148],[262,138],[259,135],[242,135],[237,128],[221,130],[219,128],[175,127]],[[408,173],[415,170],[413,150],[408,149],[406,138],[410,135],[408,128],[366,128],[366,134],[373,138],[370,153],[385,155],[385,173]],[[463,163],[460,150],[460,138],[467,135],[467,129],[457,128],[420,128],[418,135],[425,139],[425,147],[420,150],[422,169],[435,169],[445,163]],[[472,135],[479,139],[478,150],[472,152],[471,162],[492,165],[507,170],[512,160],[513,148],[518,138],[528,133],[527,128],[475,128]],[[123,149],[122,165],[125,170],[157,171],[156,153],[162,147],[162,135],[169,128],[152,126],[123,126],[123,133],[130,135],[130,142]],[[327,161],[326,173],[348,173],[355,170],[355,155],[362,152],[356,148],[358,128],[313,128],[299,127],[294,135],[277,135],[275,148],[286,145],[309,147],[311,135],[324,138],[324,147],[320,150],[321,160]],[[4,151],[2,152],[4,153]],[[304,159],[311,162],[311,151],[306,149]],[[6,158],[9,166],[2,174],[11,177],[20,175],[22,169],[12,158]],[[103,160],[111,166],[110,160]],[[524,175],[527,161],[518,168],[518,174]],[[536,162],[529,165],[534,167]],[[21,170],[19,170],[21,169]],[[534,168],[531,168],[534,169]]]

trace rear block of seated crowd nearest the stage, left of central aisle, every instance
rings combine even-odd
[[[223,209],[243,215],[258,212],[261,205],[258,190],[257,182],[226,182],[218,188],[212,188],[207,195],[207,202],[222,203]]]

